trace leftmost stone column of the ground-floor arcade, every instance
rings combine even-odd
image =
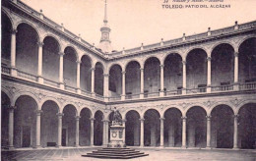
[[[16,106],[9,107],[9,125],[8,125],[9,149],[14,148],[14,109],[16,109]]]

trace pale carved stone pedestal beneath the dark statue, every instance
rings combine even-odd
[[[123,126],[115,124],[110,126],[110,142],[107,144],[107,147],[125,147],[124,128]]]

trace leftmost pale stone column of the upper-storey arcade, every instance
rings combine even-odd
[[[12,29],[11,36],[11,76],[17,76],[16,69],[16,33],[17,29]]]

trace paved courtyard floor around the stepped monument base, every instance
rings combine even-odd
[[[81,154],[92,152],[95,148],[61,148],[1,151],[2,161],[102,161],[114,159],[97,159],[82,157]],[[140,148],[142,152],[150,154],[133,161],[185,161],[185,160],[213,160],[213,161],[256,161],[256,150],[228,150],[228,149],[160,149]]]

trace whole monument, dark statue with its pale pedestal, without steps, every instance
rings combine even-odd
[[[107,147],[125,147],[124,129],[122,125],[122,117],[119,111],[114,107],[112,125],[110,126],[110,142]]]

